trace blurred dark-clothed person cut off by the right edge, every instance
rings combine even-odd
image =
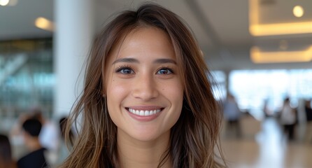
[[[312,143],[312,99],[304,102],[304,112],[306,113],[306,141]]]

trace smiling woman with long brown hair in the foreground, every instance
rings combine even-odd
[[[177,15],[153,3],[121,13],[92,45],[70,118],[82,125],[62,167],[221,167],[206,73]]]

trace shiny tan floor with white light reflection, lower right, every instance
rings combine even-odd
[[[223,138],[222,148],[229,167],[312,167],[312,144],[299,140],[287,141],[274,118],[264,120],[254,138]]]

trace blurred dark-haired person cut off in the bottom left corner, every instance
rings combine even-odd
[[[0,168],[15,168],[16,163],[12,158],[12,150],[8,137],[0,134]]]

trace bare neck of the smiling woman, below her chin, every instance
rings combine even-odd
[[[118,155],[120,166],[123,168],[158,167],[169,148],[170,132],[153,141],[138,141],[131,137],[120,134],[118,130]],[[172,167],[170,158],[166,159],[163,168]]]

